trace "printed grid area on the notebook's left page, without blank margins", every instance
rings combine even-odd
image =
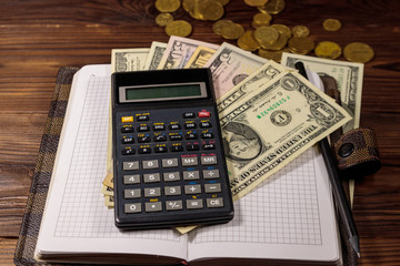
[[[123,232],[100,193],[106,176],[110,76],[91,75],[57,222],[56,237],[146,238],[179,242],[171,231]]]

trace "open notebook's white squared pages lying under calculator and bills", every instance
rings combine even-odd
[[[197,228],[120,232],[100,193],[107,166],[110,65],[73,78],[36,258],[190,265],[339,265],[334,207],[322,156],[309,149],[234,203],[236,217]]]

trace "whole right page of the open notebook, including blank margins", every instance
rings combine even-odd
[[[337,260],[339,241],[327,170],[313,146],[234,203],[228,225],[190,234],[189,258]]]

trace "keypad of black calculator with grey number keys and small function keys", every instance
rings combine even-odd
[[[117,193],[127,217],[152,213],[218,212],[230,195],[222,175],[217,114],[207,109],[123,112],[117,137]],[[219,147],[219,149],[217,149]],[[220,162],[221,161],[221,162]],[[230,207],[230,206],[229,206]]]

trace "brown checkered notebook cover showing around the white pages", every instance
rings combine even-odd
[[[37,165],[33,173],[32,184],[23,214],[19,239],[14,253],[14,264],[18,266],[68,266],[77,264],[42,263],[33,258],[38,239],[40,223],[44,209],[46,197],[49,190],[51,173],[56,158],[57,147],[66,115],[69,93],[73,74],[79,70],[77,66],[63,66],[59,70],[56,80],[53,99],[51,101],[48,120],[40,143]],[[348,192],[348,184],[343,184]],[[339,219],[341,235],[342,257],[344,266],[357,266],[357,254],[350,247],[343,234],[343,226]],[[79,264],[82,265],[82,264]]]

